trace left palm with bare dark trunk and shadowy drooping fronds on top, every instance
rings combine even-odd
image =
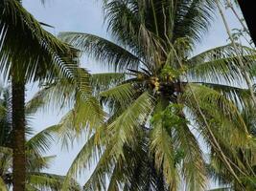
[[[44,31],[21,1],[1,1],[0,12],[0,68],[12,79],[13,190],[20,191],[25,189],[25,176],[20,175],[26,170],[25,84],[49,83],[61,76],[77,84],[82,95],[88,95],[89,89],[86,80],[78,80],[87,75],[76,70],[78,52]]]

